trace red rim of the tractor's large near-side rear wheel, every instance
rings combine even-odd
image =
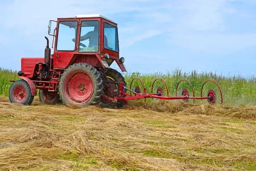
[[[93,81],[84,70],[70,72],[63,86],[64,96],[73,104],[84,104],[93,94]]]

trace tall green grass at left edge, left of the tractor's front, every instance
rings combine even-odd
[[[9,88],[12,85],[10,80],[19,80],[17,71],[0,68],[0,95],[8,96]]]

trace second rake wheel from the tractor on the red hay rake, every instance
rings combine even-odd
[[[169,96],[169,91],[166,85],[166,82],[163,81],[161,78],[157,78],[154,80],[152,87],[151,87],[151,93],[157,94],[157,96]]]

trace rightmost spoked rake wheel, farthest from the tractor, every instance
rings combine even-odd
[[[201,97],[209,97],[207,101],[210,104],[223,103],[221,88],[219,87],[218,83],[213,80],[207,80],[204,82],[201,88]]]

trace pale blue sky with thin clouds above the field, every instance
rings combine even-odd
[[[1,0],[0,7],[3,68],[44,56],[49,20],[102,14],[118,23],[128,72],[256,72],[256,0]]]

